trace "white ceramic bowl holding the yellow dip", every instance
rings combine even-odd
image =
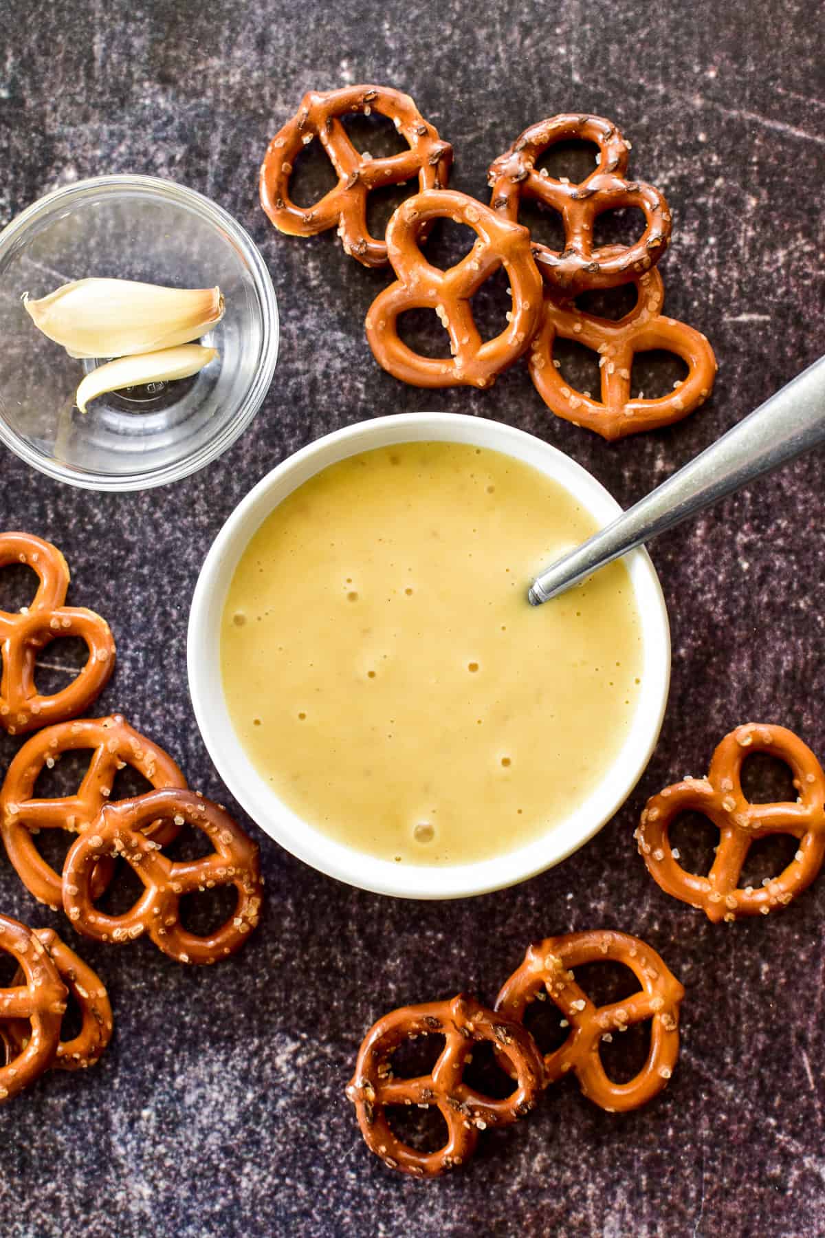
[[[560,482],[600,525],[620,513],[615,499],[580,464],[521,430],[447,412],[414,412],[362,421],[296,452],[235,508],[204,562],[189,614],[189,691],[195,718],[218,773],[235,799],[276,842],[322,873],[380,894],[456,899],[522,881],[558,864],[588,842],[621,807],[641,777],[662,727],[670,682],[668,615],[646,551],[626,563],[642,623],[642,688],[627,739],[596,790],[566,818],[526,847],[474,864],[419,865],[376,859],[315,829],[283,803],[257,773],[233,727],[220,673],[220,619],[237,562],[270,513],[313,474],[357,452],[412,441],[471,443],[524,461]],[[524,581],[527,589],[528,581]]]

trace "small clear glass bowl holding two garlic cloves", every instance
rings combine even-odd
[[[84,373],[24,308],[88,276],[220,286],[218,358],[177,383],[74,406]],[[0,441],[42,473],[93,490],[142,490],[216,459],[257,412],[278,354],[278,311],[261,255],[203,194],[151,176],[99,176],[35,202],[0,233]]]

